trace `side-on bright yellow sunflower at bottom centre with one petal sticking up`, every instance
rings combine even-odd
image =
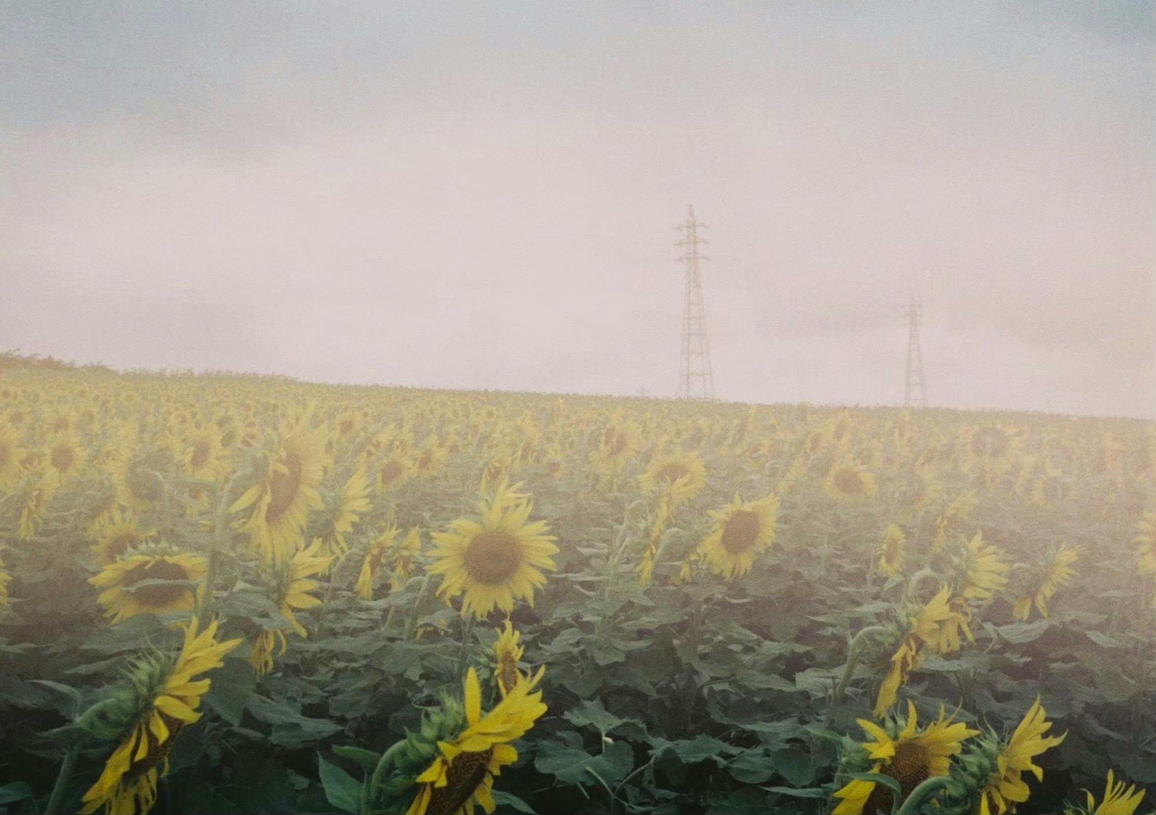
[[[531,692],[542,679],[518,682],[494,709],[482,716],[482,691],[473,667],[466,672],[467,727],[452,740],[438,741],[438,755],[415,779],[417,794],[406,815],[473,815],[474,803],[487,813],[495,809],[494,777],[518,760],[510,742],[519,739],[546,712],[542,692]]]

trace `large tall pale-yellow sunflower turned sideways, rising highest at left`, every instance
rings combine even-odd
[[[266,442],[264,474],[229,507],[250,510],[243,528],[266,563],[286,560],[299,542],[309,511],[321,509],[317,486],[325,475],[325,425],[290,430]]]

